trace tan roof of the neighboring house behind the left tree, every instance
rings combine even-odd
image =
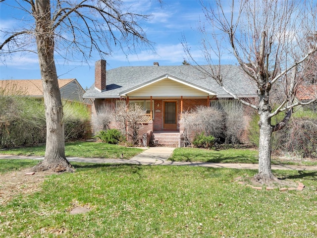
[[[73,80],[75,79],[58,79],[58,87],[62,88]],[[28,96],[43,96],[42,79],[0,80],[0,88],[6,88],[9,91],[19,91]]]

